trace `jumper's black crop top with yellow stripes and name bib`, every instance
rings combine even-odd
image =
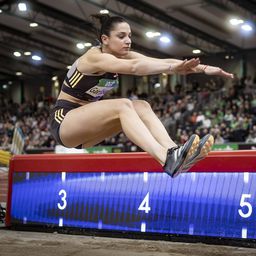
[[[61,90],[80,100],[97,101],[116,87],[118,74],[85,75],[77,70],[76,61],[68,71]]]

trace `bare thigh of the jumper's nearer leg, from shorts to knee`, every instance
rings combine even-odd
[[[118,106],[121,101],[92,102],[67,113],[60,126],[60,138],[68,147],[103,140],[121,130]]]

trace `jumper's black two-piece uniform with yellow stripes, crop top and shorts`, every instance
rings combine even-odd
[[[72,65],[63,81],[61,87],[63,92],[80,100],[94,102],[100,100],[108,91],[118,87],[118,74],[85,75],[77,69],[77,62]],[[67,100],[57,100],[51,111],[51,133],[61,145],[63,145],[59,136],[61,122],[70,110],[78,107],[81,105]],[[79,145],[77,148],[81,147],[82,145]]]

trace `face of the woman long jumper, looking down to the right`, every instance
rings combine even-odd
[[[117,57],[124,57],[131,47],[131,28],[128,23],[116,24],[109,36],[102,36],[102,43],[105,50]]]

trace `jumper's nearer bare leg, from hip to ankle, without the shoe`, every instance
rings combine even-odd
[[[67,113],[60,126],[64,145],[95,144],[122,129],[125,135],[162,165],[167,148],[152,136],[128,99],[102,100]]]

